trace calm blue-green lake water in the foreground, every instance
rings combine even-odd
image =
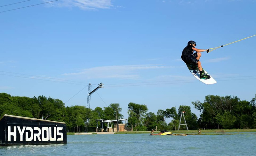
[[[68,135],[67,144],[0,147],[0,155],[256,155],[256,135]]]

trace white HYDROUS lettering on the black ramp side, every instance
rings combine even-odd
[[[11,131],[13,127],[13,131]],[[18,131],[17,131],[18,129]],[[20,126],[8,126],[8,141],[17,141],[17,134],[20,134],[20,140],[24,141],[23,136],[25,135],[25,141],[56,141],[57,136],[59,137],[57,141],[63,141],[63,133],[60,132],[63,130],[63,127],[20,127]],[[25,133],[24,133],[25,132]],[[53,137],[52,137],[53,134]],[[13,136],[13,139],[12,139]]]

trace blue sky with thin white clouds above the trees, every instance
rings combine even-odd
[[[2,0],[0,6],[17,2]],[[91,108],[120,103],[124,117],[129,102],[155,113],[189,105],[199,117],[191,101],[209,94],[251,101],[256,37],[202,53],[213,85],[196,80],[180,56],[189,40],[208,49],[256,34],[255,6],[255,0],[59,0],[2,12],[0,92],[65,103],[90,82],[94,88],[102,82]],[[87,91],[66,106],[86,106]]]

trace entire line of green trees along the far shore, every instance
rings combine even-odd
[[[242,101],[237,96],[205,96],[204,102],[192,102],[199,110],[200,117],[191,112],[190,106],[180,105],[166,110],[148,112],[145,104],[128,103],[128,127],[134,131],[177,130],[180,122],[180,114],[184,116],[189,130],[201,129],[252,129],[256,128],[256,95],[250,102]],[[4,114],[32,117],[52,121],[65,122],[68,131],[84,131],[85,121],[89,118],[89,127],[97,126],[96,119],[115,120],[124,116],[119,103],[111,103],[108,107],[96,107],[94,110],[85,106],[65,107],[59,100],[45,96],[20,97],[0,93],[0,117]],[[170,123],[166,119],[171,118]],[[183,118],[182,118],[182,122]],[[106,128],[106,125],[104,125]],[[180,126],[180,129],[186,129]]]

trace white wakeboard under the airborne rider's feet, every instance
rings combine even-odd
[[[210,75],[211,78],[210,78],[210,79],[207,79],[207,80],[205,80],[205,79],[200,79],[200,72],[199,72],[199,70],[198,70],[198,68],[197,68],[196,65],[187,64],[187,67],[188,67],[189,71],[190,71],[199,81],[201,81],[201,82],[203,82],[203,83],[205,83],[205,84],[214,84],[214,83],[217,83],[217,81],[214,80],[213,77],[212,77],[210,74],[208,74],[205,70],[204,70],[204,73],[207,74],[207,75]]]

